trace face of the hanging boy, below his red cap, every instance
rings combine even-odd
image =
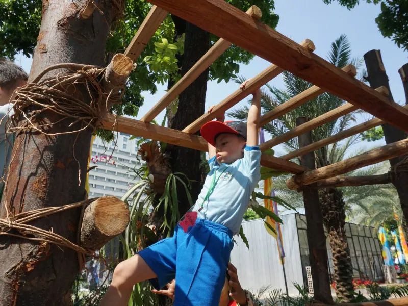
[[[219,164],[232,164],[242,158],[245,140],[236,134],[221,134],[215,141],[215,158]]]

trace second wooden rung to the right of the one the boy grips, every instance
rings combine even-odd
[[[289,139],[302,135],[303,133],[309,132],[318,126],[321,126],[327,122],[336,120],[337,118],[340,118],[341,116],[351,113],[357,109],[358,109],[357,107],[355,107],[354,105],[350,103],[346,103],[342,106],[339,106],[335,108],[334,110],[331,110],[319,117],[316,117],[306,123],[296,126],[293,130],[289,132],[286,132],[282,135],[276,136],[264,142],[263,144],[260,145],[261,151],[267,150],[268,148],[271,148],[275,145],[284,143],[285,141]]]

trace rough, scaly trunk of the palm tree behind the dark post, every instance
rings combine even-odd
[[[348,302],[353,297],[353,267],[344,229],[346,213],[343,192],[336,188],[324,189],[320,194],[320,206],[333,254],[337,298]]]

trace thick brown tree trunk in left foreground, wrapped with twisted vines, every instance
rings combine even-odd
[[[29,81],[46,67],[58,63],[105,66],[106,38],[118,14],[113,3],[118,1],[99,1],[98,8],[103,15],[95,10],[88,19],[81,20],[81,10],[86,2],[44,0]],[[53,77],[61,71],[64,70],[53,70],[46,76]],[[85,87],[77,86],[73,94],[88,103],[90,101]],[[59,118],[55,113],[43,112],[38,119],[56,122]],[[80,123],[70,127],[72,122],[66,119],[49,126],[47,132],[77,130]],[[0,218],[6,218],[6,205],[11,213],[16,214],[83,200],[91,134],[92,130],[87,129],[79,134],[56,136],[35,131],[16,135]],[[31,222],[31,225],[52,230],[77,243],[80,212],[81,209],[73,209],[50,215]],[[0,236],[0,245],[2,306],[72,304],[70,292],[79,268],[77,253],[66,247],[5,235]]]

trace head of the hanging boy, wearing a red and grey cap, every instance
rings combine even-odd
[[[246,124],[240,121],[211,121],[201,127],[201,135],[215,147],[219,164],[231,164],[243,157]]]

